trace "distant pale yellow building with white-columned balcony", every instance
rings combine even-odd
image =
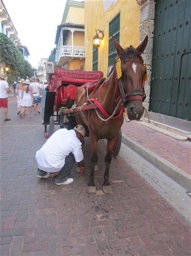
[[[84,2],[66,1],[62,23],[58,25],[53,50],[54,63],[65,69],[85,68]]]

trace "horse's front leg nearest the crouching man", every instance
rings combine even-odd
[[[90,134],[90,141],[91,141],[92,156],[91,156],[91,170],[90,170],[90,176],[89,176],[89,183],[88,183],[88,186],[87,186],[87,193],[95,194],[96,193],[96,186],[95,186],[95,183],[94,183],[94,171],[95,171],[95,167],[96,167],[97,161],[98,161],[96,136]]]

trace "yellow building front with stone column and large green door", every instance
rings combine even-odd
[[[104,35],[98,48],[92,41],[96,30]],[[177,128],[182,122],[189,126],[191,1],[85,1],[86,70],[102,70],[107,75],[115,58],[112,35],[122,47],[137,47],[149,36],[142,55],[148,69],[145,107],[156,121]]]

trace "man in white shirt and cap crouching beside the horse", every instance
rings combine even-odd
[[[80,165],[80,173],[85,168],[82,145],[84,145],[85,128],[77,125],[72,130],[59,129],[36,152],[37,177],[48,178],[50,173],[58,173],[56,185],[68,185],[74,181],[68,178],[75,162]]]

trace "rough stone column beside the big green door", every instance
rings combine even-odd
[[[147,62],[148,80],[145,83],[145,93],[147,98],[144,106],[149,110],[151,71],[152,71],[152,52],[153,52],[153,35],[154,35],[154,19],[155,19],[155,0],[136,0],[140,6],[140,41],[142,42],[148,35],[148,45],[142,54],[144,62]],[[146,116],[147,117],[147,116]]]

